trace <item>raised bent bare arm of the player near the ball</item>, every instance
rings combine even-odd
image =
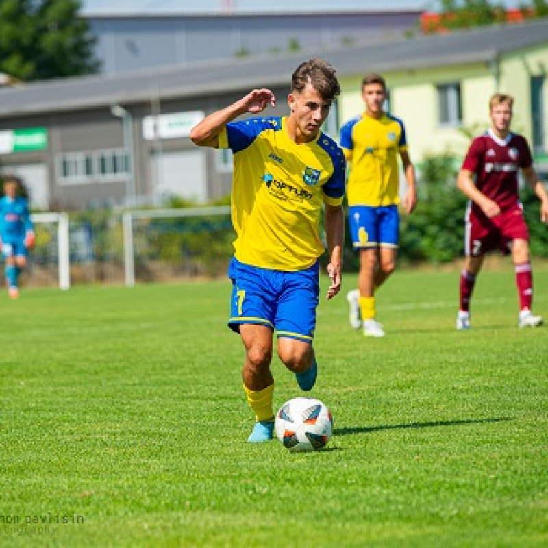
[[[271,90],[266,88],[252,90],[232,105],[206,116],[195,127],[192,127],[190,138],[199,147],[216,148],[219,146],[219,133],[227,123],[247,112],[258,114],[268,105],[276,105],[276,97]]]

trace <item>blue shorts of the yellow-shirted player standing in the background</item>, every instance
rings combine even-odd
[[[398,247],[398,206],[350,206],[348,211],[354,249]]]

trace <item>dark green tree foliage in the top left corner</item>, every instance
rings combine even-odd
[[[1,0],[0,71],[30,81],[96,73],[80,0]]]

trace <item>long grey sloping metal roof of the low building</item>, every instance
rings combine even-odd
[[[310,56],[330,62],[339,77],[425,69],[495,58],[548,46],[548,18],[470,31],[399,38],[369,45],[262,55],[229,62],[185,64],[119,75],[71,77],[0,89],[0,118],[66,112],[112,103],[129,105],[160,99],[215,95],[242,88],[288,85],[296,66]]]

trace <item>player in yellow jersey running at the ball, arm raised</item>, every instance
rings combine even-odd
[[[229,327],[245,347],[242,379],[256,416],[249,442],[273,438],[274,330],[279,358],[300,388],[311,390],[316,382],[312,340],[318,258],[324,251],[318,236],[322,207],[331,279],[327,299],[340,290],[345,158],[320,129],[339,93],[334,69],[312,59],[292,75],[288,116],[257,116],[276,102],[271,90],[260,88],[206,116],[190,133],[199,146],[234,153]],[[234,121],[242,114],[256,116]]]

